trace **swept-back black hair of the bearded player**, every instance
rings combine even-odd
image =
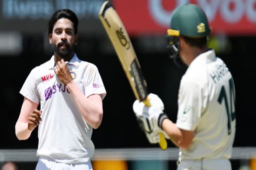
[[[53,27],[54,27],[55,23],[61,18],[69,19],[73,23],[74,32],[75,32],[75,35],[76,35],[77,34],[77,29],[78,29],[78,18],[76,16],[76,14],[73,11],[69,10],[69,9],[57,10],[52,14],[52,16],[51,16],[51,18],[48,22],[48,35],[52,34]]]

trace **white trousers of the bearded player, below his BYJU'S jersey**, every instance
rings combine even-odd
[[[92,170],[92,164],[91,161],[78,164],[65,164],[49,158],[40,157],[36,165],[36,170]]]

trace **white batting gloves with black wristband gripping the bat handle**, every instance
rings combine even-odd
[[[164,104],[162,100],[152,93],[148,95],[148,98],[151,104],[150,107],[145,106],[143,102],[139,102],[138,100],[133,103],[133,111],[141,129],[146,134],[162,132],[166,138],[169,138],[161,127],[163,120],[168,118],[163,112]]]

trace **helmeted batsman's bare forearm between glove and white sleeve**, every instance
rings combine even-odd
[[[165,119],[162,123],[163,130],[168,134],[172,142],[182,149],[188,149],[191,141],[186,140],[181,130],[169,119]]]

